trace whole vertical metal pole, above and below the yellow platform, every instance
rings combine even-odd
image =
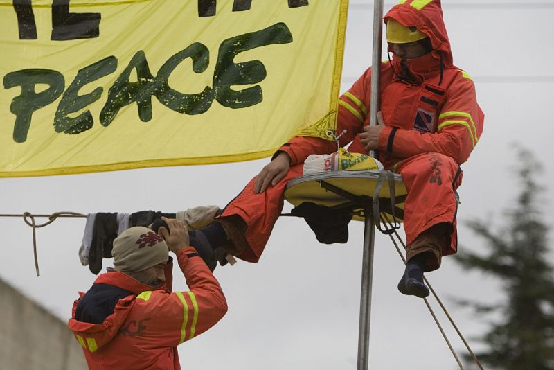
[[[370,125],[377,125],[377,112],[381,106],[381,43],[383,38],[383,0],[375,0],[373,7],[373,58],[371,67]],[[375,157],[375,151],[369,155]],[[367,370],[369,366],[369,328],[371,314],[371,285],[373,283],[373,250],[375,249],[375,217],[373,210],[365,211],[364,255],[361,270],[361,298],[358,331],[358,367]]]

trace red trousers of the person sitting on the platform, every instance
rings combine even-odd
[[[254,179],[229,203],[221,217],[239,215],[247,225],[245,238],[247,246],[238,258],[257,262],[267,244],[274,224],[283,209],[283,193],[290,180],[302,175],[303,164],[292,166],[287,175],[276,185],[269,186],[264,193],[254,193]],[[440,256],[456,253],[456,198],[454,191],[461,184],[460,166],[451,157],[439,153],[424,153],[405,159],[396,166],[396,172],[404,178],[408,195],[404,205],[404,230],[408,249],[417,247],[412,255],[426,252],[425,245],[416,238],[423,231],[438,225],[448,227],[448,236],[440,245]],[[422,234],[422,235],[425,235]],[[409,253],[409,258],[411,258]],[[429,270],[438,268],[431,266]]]

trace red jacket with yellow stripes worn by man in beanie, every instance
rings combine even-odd
[[[220,284],[195,249],[181,249],[177,260],[188,292],[171,292],[169,262],[162,287],[112,271],[98,276],[87,294],[79,293],[68,325],[89,369],[181,369],[177,345],[225,315]]]

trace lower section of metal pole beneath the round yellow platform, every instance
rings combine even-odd
[[[369,324],[371,314],[371,284],[373,283],[373,249],[375,245],[375,215],[366,209],[364,255],[361,270],[361,299],[359,307],[358,367],[367,370],[369,363]]]

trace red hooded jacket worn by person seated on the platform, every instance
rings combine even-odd
[[[484,115],[477,104],[470,76],[452,64],[452,51],[443,21],[440,0],[404,0],[384,17],[415,26],[429,36],[433,51],[409,60],[418,81],[406,82],[400,58],[383,62],[381,69],[381,111],[387,127],[379,136],[379,159],[385,168],[395,169],[402,159],[426,152],[438,152],[462,164],[470,156],[483,132]],[[389,48],[389,51],[391,49]],[[370,122],[371,69],[339,100],[337,132],[341,146],[353,141],[351,152],[365,152],[359,134]],[[280,148],[301,164],[311,154],[336,150],[332,141],[298,136]]]

